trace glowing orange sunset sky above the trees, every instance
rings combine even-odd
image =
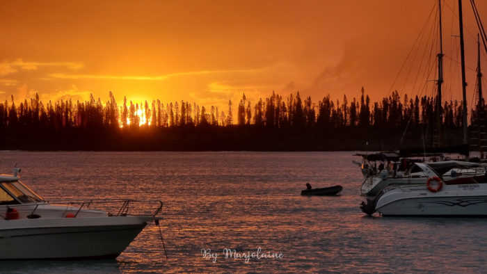
[[[444,5],[447,49],[458,35],[451,15],[456,2]],[[477,2],[486,15],[487,1]],[[0,99],[35,92],[42,100],[88,99],[93,92],[106,101],[111,90],[118,104],[127,95],[134,102],[223,107],[228,99],[238,104],[242,92],[255,104],[272,90],[285,96],[299,90],[314,102],[327,94],[340,102],[346,94],[351,101],[362,86],[373,100],[390,95],[391,86],[419,95],[394,79],[435,5],[436,0],[0,0]],[[470,103],[477,29],[470,1],[464,0],[463,9]],[[485,52],[483,58],[485,74]],[[446,60],[451,67],[456,56]],[[460,97],[455,81],[445,99]]]

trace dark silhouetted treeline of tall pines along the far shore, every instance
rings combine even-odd
[[[350,102],[345,95],[342,102],[330,95],[312,102],[299,92],[286,98],[273,92],[255,104],[243,95],[238,104],[229,101],[226,115],[214,106],[184,101],[134,104],[124,98],[119,106],[112,92],[105,104],[93,95],[85,102],[44,103],[36,94],[17,106],[12,96],[0,103],[0,150],[324,151],[433,145],[434,97],[401,98],[394,91],[370,102],[363,88],[361,93]],[[442,145],[461,145],[461,115],[460,101],[442,104]]]

